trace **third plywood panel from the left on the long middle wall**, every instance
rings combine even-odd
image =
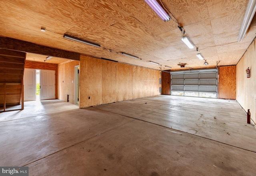
[[[130,100],[132,96],[133,85],[133,67],[132,65],[117,63],[116,70],[116,100]]]

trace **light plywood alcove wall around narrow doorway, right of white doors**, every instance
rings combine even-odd
[[[79,61],[68,61],[58,64],[58,99],[75,104],[75,66]]]

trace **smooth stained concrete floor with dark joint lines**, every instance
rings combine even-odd
[[[154,96],[0,113],[0,166],[30,176],[254,176],[256,129],[234,100]]]

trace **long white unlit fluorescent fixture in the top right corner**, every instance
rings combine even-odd
[[[244,15],[244,20],[241,26],[241,30],[238,35],[238,42],[244,39],[244,36],[252,22],[252,18],[254,17],[255,12],[256,12],[256,0],[249,0],[247,9]]]

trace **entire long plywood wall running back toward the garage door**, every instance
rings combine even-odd
[[[158,95],[159,78],[158,70],[81,56],[80,108]]]

